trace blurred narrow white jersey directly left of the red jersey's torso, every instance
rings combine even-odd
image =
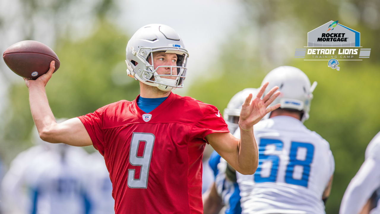
[[[87,160],[86,189],[91,206],[89,214],[115,213],[112,183],[103,156],[93,152]]]

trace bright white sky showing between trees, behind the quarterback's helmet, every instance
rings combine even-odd
[[[48,0],[46,2],[49,2]],[[92,4],[96,1],[84,0],[75,3],[70,14],[56,14],[58,18],[73,16],[70,21],[71,30],[76,32],[77,37],[84,37],[91,30],[92,20],[86,14],[92,8]],[[87,5],[87,6],[86,6]],[[0,0],[0,11],[4,14],[9,12],[17,14],[17,8],[21,7],[19,1]],[[3,8],[3,9],[1,9]],[[6,9],[5,9],[6,8]],[[86,8],[89,8],[86,10]],[[135,32],[140,27],[151,24],[166,24],[173,27],[176,32],[182,37],[185,47],[189,52],[188,72],[185,82],[185,88],[177,89],[176,93],[183,94],[186,91],[186,86],[195,83],[197,78],[202,78],[200,72],[207,72],[207,67],[211,66],[211,62],[218,56],[219,44],[223,43],[227,36],[233,33],[236,23],[239,22],[240,14],[243,8],[237,0],[192,0],[192,1],[177,1],[177,0],[119,0],[118,8],[121,11],[120,16],[116,20],[118,26],[124,29],[129,34]],[[6,10],[6,11],[5,11]],[[78,13],[81,10],[81,13]],[[8,13],[8,14],[9,14]],[[67,13],[67,12],[66,12]],[[82,15],[80,15],[82,14]],[[3,38],[0,41],[0,47],[5,50],[9,45],[22,40],[19,21],[11,19],[11,16],[2,16],[6,31],[0,32]],[[41,23],[37,25],[35,30],[34,40],[41,41],[48,46],[53,45],[54,32],[46,30],[49,26],[49,20],[44,19],[44,14],[35,14],[35,21]],[[112,18],[113,19],[113,18]],[[45,26],[45,27],[43,27]],[[41,28],[41,29],[40,29]],[[126,43],[127,44],[127,41]],[[125,48],[125,47],[121,47]],[[3,51],[4,51],[3,50]],[[6,103],[6,86],[9,81],[20,81],[16,75],[9,75],[8,67],[5,63],[0,62],[2,72],[8,72],[7,76],[0,75],[0,111]],[[10,80],[5,77],[11,78]],[[127,78],[127,77],[126,77]]]

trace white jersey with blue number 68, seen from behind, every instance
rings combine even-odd
[[[322,194],[334,172],[329,144],[293,117],[254,126],[259,149],[253,175],[237,172],[242,213],[321,214]],[[237,130],[236,137],[240,138]]]

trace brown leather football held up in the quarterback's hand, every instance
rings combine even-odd
[[[41,42],[25,40],[17,42],[3,53],[5,64],[17,75],[35,80],[49,70],[55,61],[55,71],[59,69],[59,59],[51,48]]]

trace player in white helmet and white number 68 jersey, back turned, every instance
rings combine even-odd
[[[328,142],[303,125],[317,83],[310,86],[306,74],[291,66],[272,70],[267,81],[280,87],[272,104],[281,107],[254,126],[258,168],[254,175],[237,173],[242,213],[325,213],[334,158]]]

